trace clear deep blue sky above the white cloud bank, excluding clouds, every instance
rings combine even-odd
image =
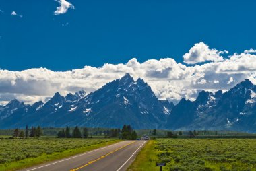
[[[0,68],[67,71],[133,57],[183,62],[198,42],[230,53],[256,47],[256,1],[69,2],[75,9],[54,15],[54,0],[2,0]]]

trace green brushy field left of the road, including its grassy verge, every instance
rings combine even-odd
[[[120,141],[118,139],[0,139],[0,170],[18,170]]]

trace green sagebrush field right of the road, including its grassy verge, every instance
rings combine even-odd
[[[141,150],[131,170],[256,170],[256,139],[157,139]]]

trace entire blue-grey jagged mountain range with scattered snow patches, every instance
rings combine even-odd
[[[84,91],[29,105],[12,100],[0,106],[0,129],[24,127],[122,127],[256,132],[256,86],[246,79],[227,92],[201,91],[195,101],[174,105],[159,100],[150,86],[129,75],[86,94]]]

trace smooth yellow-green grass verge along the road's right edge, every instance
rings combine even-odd
[[[128,171],[144,171],[144,170],[159,170],[156,167],[156,161],[158,156],[154,151],[156,140],[150,140],[146,145],[139,151],[139,154],[135,158],[134,162],[127,169]]]

